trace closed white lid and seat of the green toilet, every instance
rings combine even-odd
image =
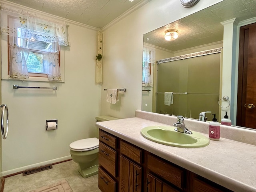
[[[72,142],[69,145],[72,151],[89,151],[99,147],[99,140],[97,138],[81,139]]]

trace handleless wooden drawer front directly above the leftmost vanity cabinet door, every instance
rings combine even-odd
[[[134,160],[135,162],[142,163],[142,150],[124,142],[120,141],[120,153],[124,154],[128,158]]]

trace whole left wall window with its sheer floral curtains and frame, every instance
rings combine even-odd
[[[69,46],[66,23],[8,6],[1,7],[0,14],[2,40],[8,43],[6,50],[1,50],[8,55],[8,76],[4,79],[63,82],[60,50]],[[61,58],[63,62],[64,54]]]

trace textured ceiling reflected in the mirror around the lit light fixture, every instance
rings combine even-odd
[[[144,42],[175,52],[222,41],[223,26],[220,22],[232,18],[236,18],[236,21],[240,22],[253,17],[256,17],[256,0],[224,0],[144,34]],[[179,37],[173,41],[166,41],[164,34],[168,29],[178,30]]]

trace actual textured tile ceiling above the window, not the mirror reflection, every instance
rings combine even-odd
[[[7,0],[89,26],[102,28],[145,0]]]

